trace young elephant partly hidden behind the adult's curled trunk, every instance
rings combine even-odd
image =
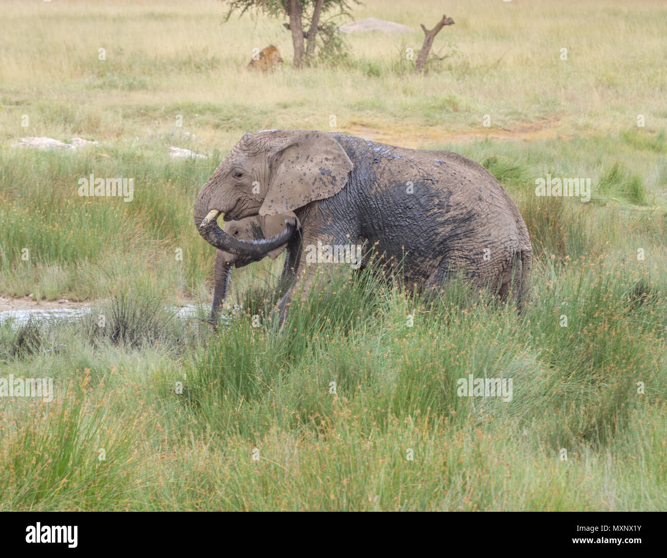
[[[289,218],[296,218],[293,212],[285,212],[278,215],[267,215],[264,217],[253,216],[246,217],[240,221],[229,221],[225,224],[223,231],[225,234],[229,234],[236,238],[237,240],[261,240],[263,238],[268,238],[275,234],[279,234],[283,231],[285,227],[285,221]],[[298,222],[297,222],[298,224]],[[283,250],[287,250],[285,256],[285,264],[283,266],[283,271],[278,279],[277,289],[285,288],[291,274],[294,272],[295,267],[295,258],[297,256],[298,247],[295,246],[293,242],[297,238],[297,234],[293,238],[289,239],[289,242],[271,250],[266,254],[271,260],[275,260]],[[252,262],[257,262],[261,258],[251,258],[249,256],[243,256],[239,254],[233,254],[231,252],[224,252],[223,250],[217,250],[215,253],[215,264],[213,265],[213,304],[211,305],[211,316],[210,321],[213,324],[216,324],[219,315],[220,308],[223,300],[227,296],[227,289],[229,288],[229,280],[231,278],[232,268],[242,268],[251,264]]]

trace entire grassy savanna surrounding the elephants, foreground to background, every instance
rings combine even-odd
[[[443,10],[442,61],[414,75],[406,49]],[[213,0],[2,11],[0,295],[93,312],[0,326],[0,378],[58,386],[0,398],[0,509],[667,508],[664,2],[368,0],[354,19],[414,33],[350,35],[301,70],[283,20],[223,23]],[[247,71],[269,43],[283,67]],[[342,272],[253,328],[281,268],[263,260],[233,272],[243,308],[217,332],[174,316],[211,300],[191,210],[220,158],[334,122],[486,166],[530,231],[526,311]],[[99,146],[11,147],[26,136]],[[78,196],[90,174],[134,178],[133,200]],[[536,196],[547,174],[590,178],[590,201]],[[512,378],[512,400],[458,397],[467,374]]]

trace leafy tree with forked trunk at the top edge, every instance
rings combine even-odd
[[[331,17],[348,15],[350,5],[360,4],[360,0],[222,0],[229,6],[225,21],[234,12],[239,17],[246,11],[255,11],[269,15],[269,17],[287,17],[289,23],[283,23],[292,36],[294,48],[294,67],[301,67],[304,63],[313,61],[317,49],[317,39],[320,39],[321,50],[327,48],[340,49],[340,40],[336,40],[339,33],[338,25],[331,21],[323,21],[322,16],[333,13]]]

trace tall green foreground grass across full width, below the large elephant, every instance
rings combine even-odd
[[[0,400],[5,507],[664,506],[664,284],[538,264],[519,315],[463,283],[426,304],[377,274],[323,281],[281,330],[175,324],[193,349],[51,328],[65,348],[2,365],[59,385],[50,404]],[[512,378],[512,400],[458,396],[468,374]]]

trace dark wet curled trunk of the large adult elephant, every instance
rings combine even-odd
[[[267,252],[275,250],[289,240],[296,231],[296,220],[285,220],[285,230],[279,234],[265,238],[263,240],[237,240],[233,236],[224,232],[217,224],[217,217],[220,212],[217,210],[209,211],[205,200],[197,198],[195,202],[195,226],[202,238],[215,246],[218,250],[231,252],[238,256],[247,258],[261,259]]]

